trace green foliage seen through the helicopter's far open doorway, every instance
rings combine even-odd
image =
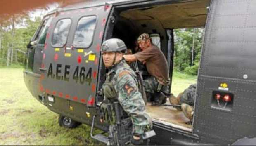
[[[197,75],[201,55],[202,28],[176,29],[174,31],[174,67],[190,75]],[[194,37],[194,56],[192,46]],[[192,64],[193,60],[193,64]]]

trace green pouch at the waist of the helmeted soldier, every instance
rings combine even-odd
[[[111,103],[102,103],[100,106],[101,118],[108,123],[113,125],[116,123],[116,112],[114,106]]]

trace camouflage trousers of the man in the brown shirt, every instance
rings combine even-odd
[[[145,87],[145,92],[156,93],[156,92],[166,92],[168,93],[168,86],[161,85],[155,77],[151,76],[146,80],[143,80],[143,86]]]

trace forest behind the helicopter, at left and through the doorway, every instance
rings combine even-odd
[[[0,67],[26,64],[27,45],[40,25],[41,17],[26,13],[9,16],[0,23]],[[174,30],[174,69],[197,75],[204,28]]]

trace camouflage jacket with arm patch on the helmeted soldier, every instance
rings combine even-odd
[[[147,127],[152,127],[152,119],[145,111],[145,103],[137,87],[136,74],[125,60],[109,69],[106,82],[111,82],[114,86],[117,100],[131,118],[133,133],[143,134]]]

